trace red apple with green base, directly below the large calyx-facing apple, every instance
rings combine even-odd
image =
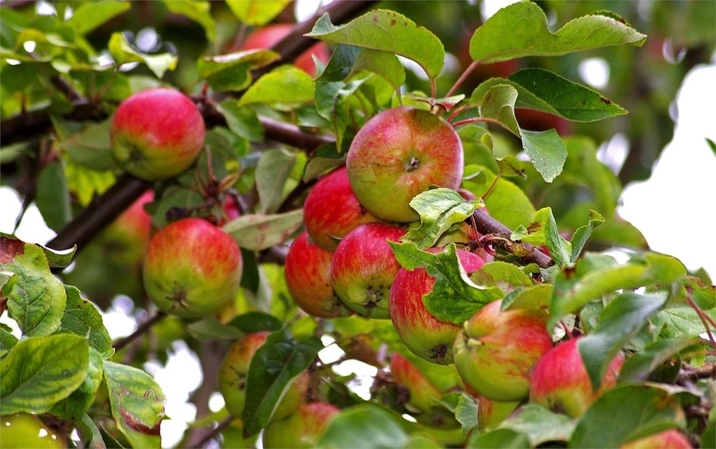
[[[387,240],[397,242],[402,227],[366,223],[339,243],[331,264],[333,290],[349,309],[369,318],[390,318],[390,285],[400,270]]]

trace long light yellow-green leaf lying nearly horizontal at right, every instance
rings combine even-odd
[[[590,264],[590,260],[579,260],[576,270],[565,268],[556,276],[548,327],[556,325],[563,315],[576,312],[590,300],[620,289],[669,285],[686,273],[679,260],[655,252],[647,252],[623,265],[590,268]]]

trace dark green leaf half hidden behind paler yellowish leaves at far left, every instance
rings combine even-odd
[[[107,332],[102,315],[95,305],[79,295],[77,287],[65,285],[67,305],[62,316],[59,332],[71,332],[89,340],[89,346],[108,359],[115,352],[112,349],[112,337]]]

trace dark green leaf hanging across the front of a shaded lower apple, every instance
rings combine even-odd
[[[296,342],[287,329],[269,335],[248,368],[241,415],[244,433],[253,435],[266,427],[291,380],[311,366],[321,349],[323,343],[318,338]]]

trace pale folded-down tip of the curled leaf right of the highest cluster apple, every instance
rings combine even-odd
[[[520,129],[522,148],[546,182],[552,182],[562,172],[567,148],[556,130],[528,131]]]

